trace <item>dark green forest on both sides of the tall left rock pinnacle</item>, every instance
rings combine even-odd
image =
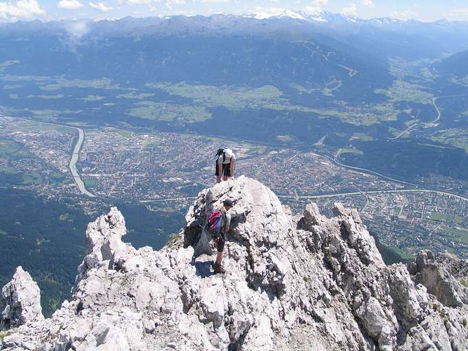
[[[50,316],[70,298],[84,253],[89,217],[71,202],[44,201],[34,192],[0,189],[0,287],[21,265],[38,282],[43,313]],[[150,211],[143,205],[117,204],[126,217],[134,247],[161,249],[184,225],[179,211]],[[110,205],[102,205],[106,213]]]

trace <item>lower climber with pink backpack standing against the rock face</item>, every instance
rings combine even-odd
[[[225,199],[222,202],[222,208],[213,210],[208,219],[211,237],[216,242],[216,249],[218,251],[216,261],[213,264],[215,273],[226,273],[226,269],[224,269],[221,263],[224,243],[226,242],[226,232],[229,232],[229,229],[231,229],[231,215],[228,213],[231,208],[233,208],[232,200]]]

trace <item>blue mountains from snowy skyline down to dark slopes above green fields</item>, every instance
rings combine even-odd
[[[229,40],[226,40],[229,38]],[[11,75],[121,84],[296,83],[323,88],[341,82],[338,99],[373,101],[393,77],[390,58],[433,59],[468,49],[468,23],[358,19],[322,12],[274,16],[171,16],[114,21],[0,24],[0,68]]]

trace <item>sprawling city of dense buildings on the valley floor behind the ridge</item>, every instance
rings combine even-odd
[[[468,258],[468,201],[461,197],[402,192],[401,184],[345,169],[314,152],[116,128],[86,131],[77,168],[97,197],[79,197],[68,169],[77,138],[71,128],[0,117],[0,171],[23,175],[21,186],[43,197],[76,198],[89,213],[112,201],[180,209],[214,184],[215,152],[227,146],[237,156],[236,175],[263,182],[295,212],[313,201],[331,215],[333,203],[343,202],[358,208],[369,230],[403,256],[432,248]],[[437,177],[430,182],[442,181]]]

